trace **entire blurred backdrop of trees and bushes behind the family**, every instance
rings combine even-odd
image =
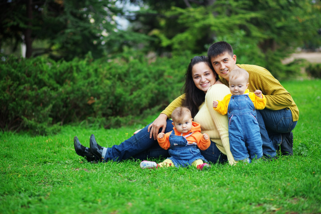
[[[320,78],[321,1],[1,0],[0,128],[137,122],[221,40],[280,81]]]

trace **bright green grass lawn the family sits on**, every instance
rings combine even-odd
[[[0,213],[321,213],[321,81],[282,84],[300,118],[294,156],[272,162],[142,170],[139,161],[89,164],[74,152],[75,135],[85,146],[92,133],[100,145],[112,146],[156,115],[113,130],[1,133]]]

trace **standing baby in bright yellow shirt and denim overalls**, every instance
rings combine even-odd
[[[213,108],[221,114],[228,114],[230,150],[234,159],[250,163],[263,156],[255,110],[265,108],[266,98],[260,90],[249,92],[248,77],[247,71],[242,68],[230,71],[231,94],[222,101],[213,101]]]

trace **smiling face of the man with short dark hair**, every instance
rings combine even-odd
[[[225,52],[222,55],[211,57],[211,63],[215,72],[228,81],[230,71],[236,68],[236,56],[231,57],[229,53]]]

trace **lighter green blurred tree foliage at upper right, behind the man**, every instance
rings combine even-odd
[[[218,38],[236,39],[233,35],[240,36],[239,31],[245,32],[244,45],[254,43],[264,53],[321,45],[317,32],[321,28],[320,1],[142,1],[148,7],[134,22],[158,39],[155,49],[199,53]]]

